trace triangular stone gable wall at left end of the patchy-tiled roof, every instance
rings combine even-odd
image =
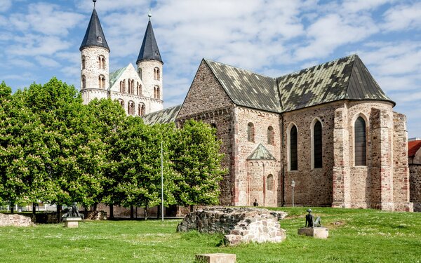
[[[178,118],[229,107],[232,104],[232,100],[225,93],[215,74],[210,70],[205,60],[202,60],[182,104]]]

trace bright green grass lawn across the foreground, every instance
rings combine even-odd
[[[235,253],[237,262],[421,262],[421,213],[314,208],[329,238],[298,236],[306,208],[277,208],[283,243],[218,246],[220,235],[179,234],[180,220],[102,221],[0,228],[0,262],[194,262],[199,253]],[[342,222],[342,224],[331,224]]]

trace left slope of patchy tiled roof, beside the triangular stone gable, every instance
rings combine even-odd
[[[235,104],[281,112],[275,79],[220,62],[204,61]]]

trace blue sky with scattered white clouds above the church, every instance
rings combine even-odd
[[[164,107],[183,102],[202,58],[277,77],[356,53],[421,137],[421,0],[98,0],[110,72],[135,65],[149,8]],[[79,89],[92,11],[91,0],[0,0],[0,81]]]

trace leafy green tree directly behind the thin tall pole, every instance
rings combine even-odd
[[[123,128],[114,135],[112,159],[119,183],[114,193],[128,207],[154,206],[161,203],[161,142],[163,143],[164,200],[175,203],[173,192],[177,175],[169,159],[169,142],[175,133],[173,124],[147,126],[139,117],[128,116]]]

